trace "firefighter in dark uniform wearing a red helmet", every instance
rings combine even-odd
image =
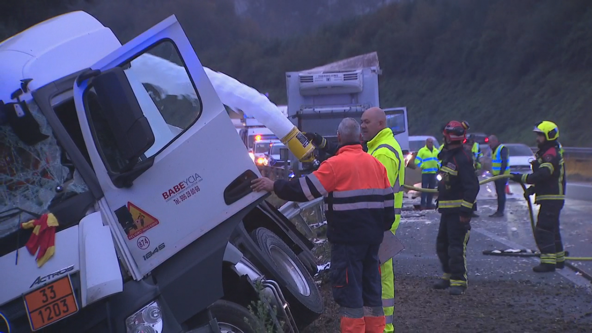
[[[451,295],[466,290],[466,244],[471,230],[473,205],[479,193],[473,158],[462,143],[469,124],[450,121],[442,129],[444,149],[438,158],[442,167],[437,173],[440,227],[436,238],[436,252],[444,271],[435,289],[449,289]]]

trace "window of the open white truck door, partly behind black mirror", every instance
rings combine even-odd
[[[150,158],[197,121],[202,112],[201,98],[181,55],[170,40],[153,45],[121,67],[155,136],[155,143],[141,159]],[[115,137],[96,102],[92,82],[84,99],[105,164],[112,172],[121,172],[126,162],[121,158]]]

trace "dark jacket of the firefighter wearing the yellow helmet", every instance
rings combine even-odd
[[[522,175],[522,182],[535,185],[535,203],[565,199],[565,164],[561,150],[555,141],[546,142],[536,152],[532,174]]]

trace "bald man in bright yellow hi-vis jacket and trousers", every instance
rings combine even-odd
[[[364,111],[360,128],[362,139],[368,145],[368,153],[374,156],[387,169],[388,180],[395,194],[395,220],[390,232],[397,231],[401,221],[403,206],[403,184],[405,183],[405,162],[401,146],[395,140],[392,130],[387,127],[387,115],[381,108],[372,107]],[[395,305],[395,276],[392,258],[381,265],[382,306],[387,325],[385,333],[394,332],[392,314]]]

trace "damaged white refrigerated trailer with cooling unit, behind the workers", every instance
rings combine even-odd
[[[288,118],[303,132],[337,140],[337,126],[345,117],[360,119],[363,111],[379,107],[376,52],[313,69],[286,73]],[[408,152],[407,108],[383,108],[404,153]]]

